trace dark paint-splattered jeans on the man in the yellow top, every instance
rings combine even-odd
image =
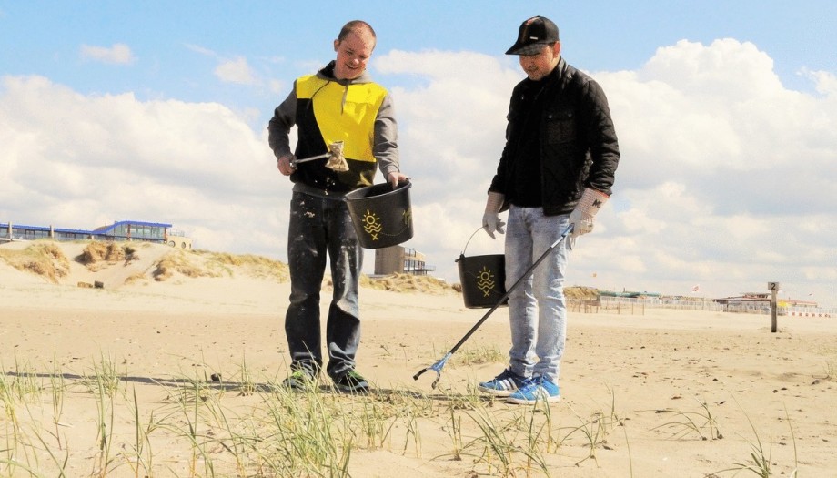
[[[326,320],[327,372],[336,379],[354,369],[360,343],[358,280],[363,249],[342,198],[295,191],[287,231],[291,292],[285,315],[291,370],[316,373],[323,365],[319,295],[327,254],[334,284]]]

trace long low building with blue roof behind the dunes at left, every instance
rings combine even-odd
[[[192,239],[183,232],[171,229],[171,224],[144,222],[139,220],[120,220],[100,228],[64,229],[53,226],[25,226],[0,222],[0,241],[55,239],[69,240],[104,240],[104,241],[143,241],[167,244],[178,249],[192,249]]]

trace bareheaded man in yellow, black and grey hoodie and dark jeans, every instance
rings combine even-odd
[[[360,342],[358,280],[363,249],[352,227],[343,196],[370,186],[376,169],[393,187],[407,176],[398,161],[398,126],[386,88],[366,71],[376,45],[366,22],[348,22],[334,40],[337,59],[316,75],[302,76],[274,111],[268,141],[277,168],[294,183],[287,235],[291,278],[285,332],[291,355],[289,388],[316,383],[322,369],[319,295],[330,258],[334,293],[328,309],[326,371],[341,392],[367,392],[368,382],[355,370]],[[297,127],[297,147],[289,133]],[[343,142],[348,171],[335,171],[325,161],[296,163],[328,153]]]

